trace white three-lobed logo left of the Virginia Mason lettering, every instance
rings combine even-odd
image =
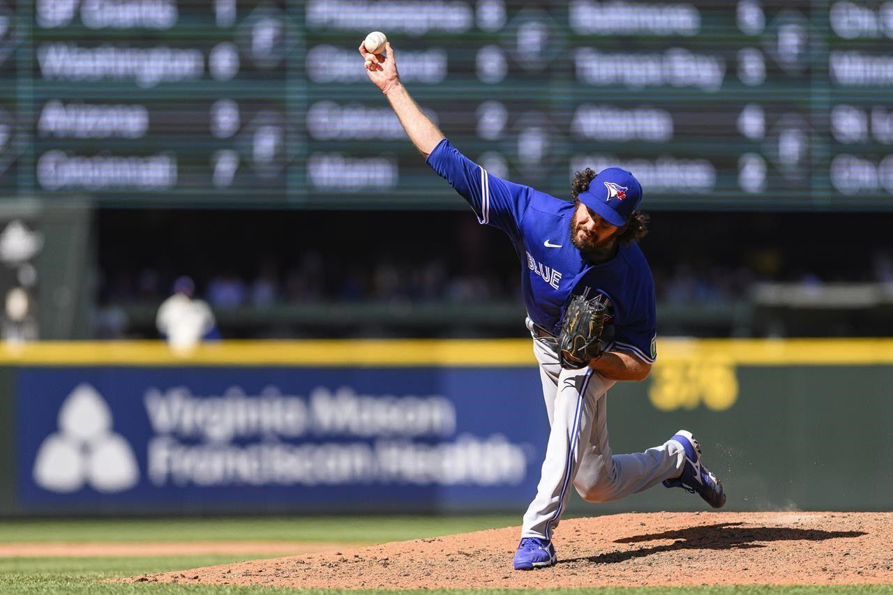
[[[129,490],[139,481],[137,457],[112,430],[112,411],[88,383],[79,384],[59,408],[59,432],[38,449],[34,481],[45,490]]]

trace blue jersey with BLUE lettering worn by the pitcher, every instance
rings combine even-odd
[[[522,297],[530,320],[558,333],[572,294],[590,288],[613,304],[613,344],[647,363],[657,356],[655,281],[636,244],[590,264],[571,242],[572,203],[489,174],[445,138],[428,164],[462,195],[481,224],[505,231],[522,263]]]

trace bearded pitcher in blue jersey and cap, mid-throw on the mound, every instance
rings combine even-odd
[[[481,224],[505,231],[522,263],[527,328],[539,363],[551,425],[537,495],[522,524],[514,557],[519,570],[552,566],[555,532],[571,484],[588,502],[606,502],[659,482],[697,492],[712,507],[725,504],[721,483],[701,463],[690,432],[631,455],[612,455],[606,392],[616,381],[644,380],[657,351],[655,285],[638,240],[647,215],[642,188],[630,172],[577,172],[573,201],[489,174],[453,147],[401,84],[390,44],[386,54],[360,46],[370,80],[388,97],[413,145],[472,205]],[[601,293],[613,316],[604,355],[580,370],[558,363],[555,337],[569,296]]]

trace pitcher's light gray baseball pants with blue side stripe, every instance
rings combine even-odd
[[[555,339],[534,338],[533,352],[552,430],[537,496],[524,515],[522,537],[552,539],[571,484],[587,502],[607,502],[679,477],[685,450],[676,441],[632,455],[611,454],[606,401],[615,381],[588,367],[563,370]]]

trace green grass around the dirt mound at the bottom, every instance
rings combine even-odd
[[[518,524],[516,516],[488,515],[469,517],[262,517],[191,520],[62,520],[2,521],[0,545],[34,542],[104,542],[149,541],[338,541],[369,544],[433,537],[456,532]],[[257,557],[257,556],[255,556]],[[200,586],[158,583],[101,583],[104,578],[133,576],[168,570],[225,564],[248,559],[245,556],[171,556],[171,557],[3,557],[0,558],[0,593],[202,593],[202,594],[267,594],[273,593],[338,593],[345,591],[287,590],[273,587]],[[546,571],[542,571],[546,572]],[[461,586],[461,585],[457,585]],[[349,591],[352,593],[524,593],[533,592],[597,593],[598,595],[642,593],[689,593],[698,595],[730,594],[772,595],[812,593],[893,593],[893,585],[866,587],[690,587],[680,589],[574,589],[555,591]]]

